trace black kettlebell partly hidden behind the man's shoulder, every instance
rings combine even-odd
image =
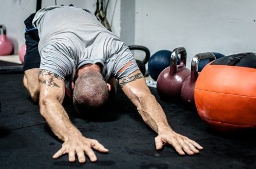
[[[136,63],[138,65],[138,68],[140,68],[140,71],[143,75],[145,75],[145,72],[146,72],[146,67],[145,67],[145,64],[148,63],[148,60],[150,60],[150,50],[145,47],[145,46],[140,46],[140,45],[131,45],[131,46],[128,46],[130,50],[142,50],[145,52],[145,58],[143,61],[140,61],[140,60],[137,60],[136,57],[135,57],[135,60],[136,60]]]

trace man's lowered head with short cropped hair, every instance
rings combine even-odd
[[[109,100],[109,91],[99,72],[82,72],[76,79],[73,104],[79,113],[100,109]]]

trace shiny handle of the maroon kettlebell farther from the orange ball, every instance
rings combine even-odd
[[[180,54],[180,65],[186,67],[187,51],[185,47],[177,47],[173,49],[172,55],[170,56],[170,74],[175,74],[177,71],[177,57]]]

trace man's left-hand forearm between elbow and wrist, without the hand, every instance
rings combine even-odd
[[[65,109],[58,100],[41,101],[40,112],[54,134],[62,141],[66,141],[71,135],[81,135],[80,131],[70,122]]]

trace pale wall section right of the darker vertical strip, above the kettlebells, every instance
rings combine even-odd
[[[136,0],[135,43],[151,53],[184,46],[190,65],[201,52],[256,52],[255,20],[255,0]]]

